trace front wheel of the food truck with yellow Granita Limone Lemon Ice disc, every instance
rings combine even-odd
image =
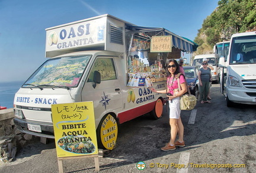
[[[107,119],[107,123],[105,124],[105,119]],[[115,121],[116,123],[113,123],[113,121]],[[104,125],[103,125],[104,123]],[[107,127],[107,128],[105,128]],[[114,136],[114,138],[111,138],[110,141],[107,142],[103,142],[104,141],[104,130],[106,129],[110,129],[110,128],[114,128],[114,130],[112,132],[107,133],[107,136]],[[116,146],[116,141],[117,141],[117,136],[119,133],[119,122],[117,121],[117,118],[115,115],[113,115],[113,113],[107,113],[106,115],[103,116],[103,118],[101,119],[98,128],[96,130],[97,133],[97,141],[98,141],[98,148],[100,149],[108,149],[108,150],[112,150],[114,149],[114,147]]]

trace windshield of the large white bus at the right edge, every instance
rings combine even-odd
[[[229,64],[256,64],[255,35],[232,39]]]

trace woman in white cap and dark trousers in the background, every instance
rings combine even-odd
[[[212,81],[211,69],[207,67],[207,58],[203,58],[203,67],[199,69],[200,102],[211,103],[207,100],[210,81]]]

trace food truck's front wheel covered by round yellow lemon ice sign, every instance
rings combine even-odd
[[[98,148],[112,150],[116,146],[118,129],[116,116],[105,115],[97,128]]]

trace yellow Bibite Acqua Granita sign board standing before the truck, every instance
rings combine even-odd
[[[98,154],[93,102],[52,105],[58,157]]]

